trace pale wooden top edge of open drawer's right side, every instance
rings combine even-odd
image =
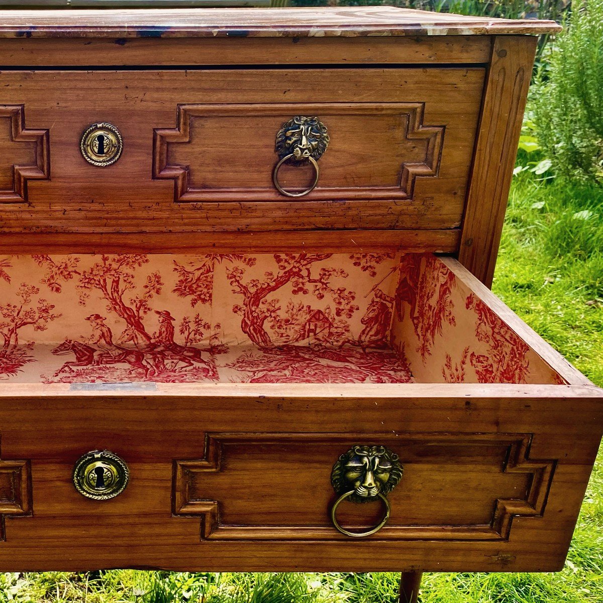
[[[570,385],[593,385],[577,368],[547,343],[534,329],[529,327],[511,308],[500,300],[484,283],[480,282],[467,268],[452,257],[441,257],[443,264],[471,289],[478,297],[519,335],[535,353],[553,370],[557,371]]]

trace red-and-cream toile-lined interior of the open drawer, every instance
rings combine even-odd
[[[0,378],[566,383],[455,265],[365,252],[5,257]]]

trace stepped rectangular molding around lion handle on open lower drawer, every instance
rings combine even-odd
[[[373,441],[400,452],[400,446],[500,446],[505,462],[494,470],[504,474],[524,473],[529,476],[528,487],[523,497],[496,499],[491,520],[487,524],[463,523],[463,525],[397,525],[385,526],[375,540],[458,540],[495,541],[508,540],[514,517],[542,517],[557,461],[529,458],[531,434],[206,434],[205,452],[202,459],[175,460],[172,484],[172,512],[174,516],[201,516],[202,540],[346,540],[335,528],[298,525],[228,525],[221,517],[219,500],[195,499],[195,480],[209,482],[210,474],[223,471],[224,444],[249,444],[250,446],[278,446],[283,443],[298,443],[299,446],[320,446],[341,442],[341,450],[358,442]],[[433,449],[433,448],[432,448]],[[426,457],[421,457],[425,462]],[[400,452],[400,462],[408,466],[408,459]],[[327,478],[330,466],[326,467]],[[327,479],[327,487],[328,479]],[[404,480],[400,482],[404,488]],[[233,496],[236,491],[233,490]],[[446,501],[442,501],[446,504]],[[395,503],[392,502],[393,516]],[[327,513],[327,510],[325,510]]]

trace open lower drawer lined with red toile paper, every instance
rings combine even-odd
[[[2,270],[0,569],[562,566],[603,393],[455,260],[72,254]],[[81,496],[74,464],[106,449],[127,487]],[[335,529],[346,484],[376,500],[344,498],[339,525],[370,531],[387,506],[382,529]]]

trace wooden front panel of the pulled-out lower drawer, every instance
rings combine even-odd
[[[515,386],[485,397],[477,386],[456,394],[447,386],[448,395],[394,387],[120,396],[90,386],[5,397],[0,469],[21,471],[31,500],[13,497],[1,508],[0,567],[561,567],[601,436],[595,388],[552,398]],[[579,396],[571,418],[568,395]],[[355,444],[385,445],[403,466],[388,495],[390,521],[367,538],[339,534],[329,519],[333,464]],[[72,484],[74,463],[95,449],[129,467],[114,499],[86,499]],[[382,512],[346,502],[338,520],[359,528]]]

